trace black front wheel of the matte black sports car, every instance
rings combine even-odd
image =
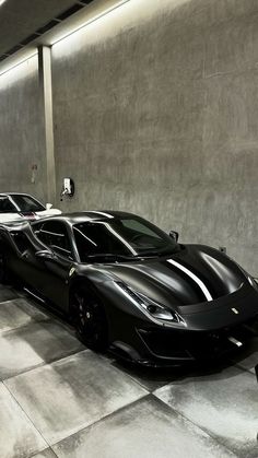
[[[85,345],[95,351],[108,347],[108,326],[103,305],[84,285],[78,285],[70,295],[70,310],[77,333]]]

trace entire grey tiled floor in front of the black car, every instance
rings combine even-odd
[[[0,287],[0,458],[258,458],[257,363],[137,369]]]

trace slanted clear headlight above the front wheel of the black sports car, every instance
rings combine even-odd
[[[157,304],[144,294],[133,291],[127,284],[122,282],[116,282],[119,287],[133,301],[133,303],[145,313],[152,320],[157,321],[169,321],[173,324],[185,325],[183,317],[174,310],[165,307],[164,305]]]

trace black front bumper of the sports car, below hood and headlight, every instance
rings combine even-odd
[[[139,314],[118,310],[112,351],[144,366],[215,360],[258,336],[258,292],[248,284],[212,302],[181,307],[186,326],[159,326]]]

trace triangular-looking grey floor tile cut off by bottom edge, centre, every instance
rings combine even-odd
[[[218,458],[233,454],[149,396],[52,446],[59,458]]]

